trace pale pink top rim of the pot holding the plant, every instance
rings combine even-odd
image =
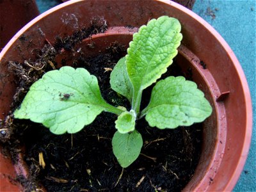
[[[51,8],[50,10],[47,10],[46,12],[42,13],[35,19],[31,20],[26,26],[24,26],[22,29],[20,29],[19,32],[17,32],[13,38],[8,42],[8,44],[3,48],[3,50],[0,52],[0,58],[3,58],[4,54],[8,52],[12,44],[19,38],[20,35],[22,35],[24,32],[26,32],[31,26],[33,26],[38,20],[41,20],[42,18],[46,17],[47,15],[51,14],[52,12],[56,12],[58,10],[61,10],[61,8],[68,6],[70,4],[74,4],[80,1],[84,0],[74,0],[74,1],[67,1],[65,3],[62,3],[58,6],[55,6],[54,8]],[[251,138],[252,138],[252,99],[250,96],[250,90],[248,87],[248,83],[246,81],[246,77],[243,72],[243,68],[241,67],[239,61],[237,60],[234,52],[232,49],[229,47],[227,42],[223,39],[223,37],[214,29],[210,24],[208,24],[202,17],[196,15],[196,13],[192,12],[191,10],[188,10],[188,8],[185,8],[184,6],[175,3],[175,2],[170,2],[168,0],[156,0],[161,3],[164,3],[168,6],[173,6],[177,10],[180,10],[180,12],[184,12],[189,17],[193,17],[197,22],[202,24],[202,26],[205,27],[210,33],[218,39],[218,42],[224,47],[224,49],[228,53],[228,57],[230,60],[232,60],[232,63],[234,63],[234,68],[236,69],[236,72],[239,76],[238,81],[240,81],[241,84],[243,84],[243,95],[244,95],[244,100],[245,100],[245,107],[246,107],[246,131],[244,133],[244,142],[243,142],[243,149],[241,150],[240,158],[238,163],[236,164],[236,168],[232,174],[232,177],[230,178],[229,182],[225,186],[225,189],[223,191],[232,191],[234,186],[237,183],[237,180],[239,179],[239,176],[241,172],[243,171],[244,164],[246,162],[246,158],[248,156],[248,152],[250,149],[250,143],[251,143]]]

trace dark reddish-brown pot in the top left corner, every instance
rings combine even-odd
[[[0,51],[19,29],[38,15],[35,0],[0,1]]]

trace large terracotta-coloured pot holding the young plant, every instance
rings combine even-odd
[[[184,191],[231,191],[243,170],[252,136],[252,102],[248,84],[236,56],[225,40],[205,20],[177,3],[164,0],[106,0],[104,3],[79,0],[63,3],[36,17],[10,40],[0,54],[1,118],[8,114],[15,92],[12,76],[6,75],[7,62],[33,58],[31,51],[42,48],[45,39],[54,44],[56,35],[64,37],[74,33],[80,26],[90,26],[95,15],[106,19],[109,27],[106,33],[93,36],[96,52],[104,50],[116,40],[128,46],[134,31],[125,26],[139,28],[149,19],[161,15],[180,20],[184,38],[177,62],[184,71],[191,68],[193,80],[203,90],[213,108],[211,117],[203,124],[204,141],[200,162]],[[25,36],[26,41],[21,42],[20,36]],[[28,46],[30,40],[34,44]],[[83,46],[85,44],[86,40],[81,48],[87,52],[88,48]],[[88,54],[95,52],[90,50]],[[206,68],[200,65],[203,61]],[[3,167],[3,163],[1,159],[0,167]],[[2,178],[3,175],[12,177],[14,173],[1,170],[0,174]]]

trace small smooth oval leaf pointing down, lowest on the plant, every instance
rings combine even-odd
[[[143,140],[138,131],[125,134],[116,131],[113,136],[112,145],[118,163],[123,168],[127,168],[140,156]]]

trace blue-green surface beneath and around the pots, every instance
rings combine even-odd
[[[58,0],[36,0],[36,2],[40,12],[45,12],[60,3]],[[233,49],[243,67],[251,90],[254,114],[252,144],[244,171],[234,191],[256,191],[255,9],[255,0],[196,0],[193,8],[193,11],[207,20]]]

